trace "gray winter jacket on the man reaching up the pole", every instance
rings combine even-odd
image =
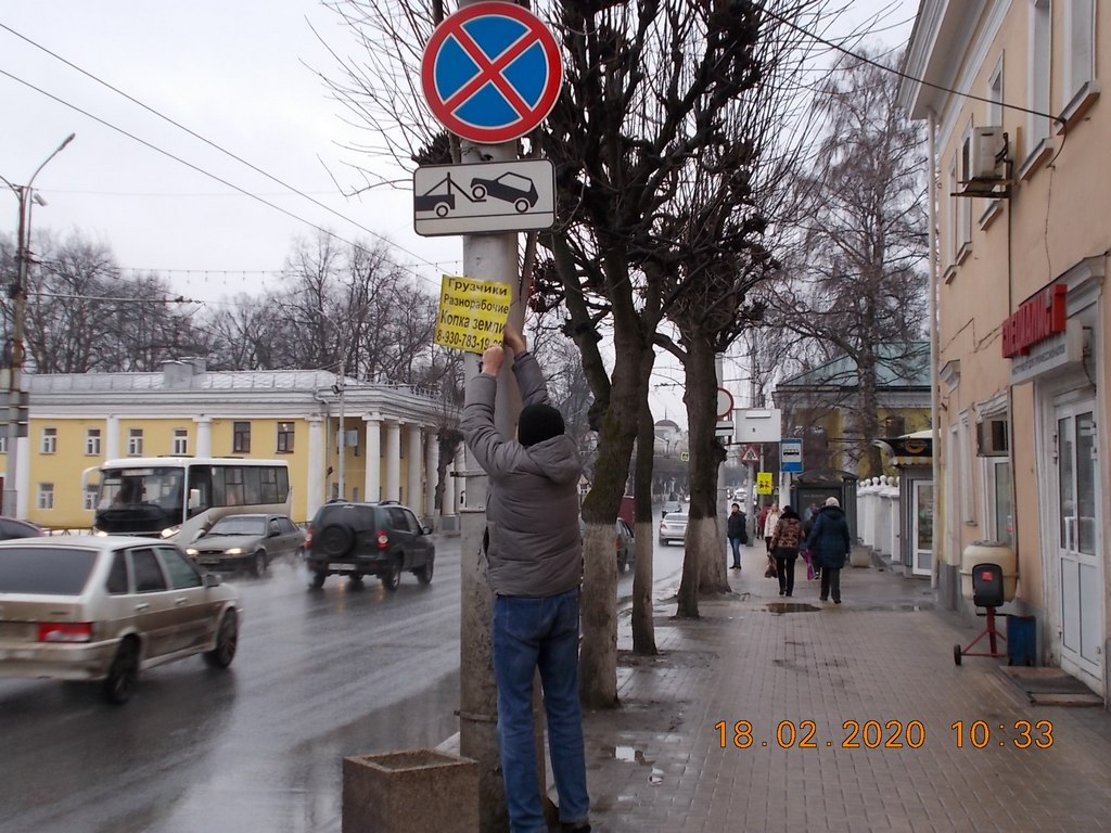
[[[531,353],[516,358],[513,373],[526,405],[548,402],[543,374]],[[498,381],[489,375],[468,382],[460,423],[467,446],[490,476],[490,586],[498,595],[564,593],[582,578],[579,451],[565,434],[529,448],[502,438],[493,421],[497,390]]]

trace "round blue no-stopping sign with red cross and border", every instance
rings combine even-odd
[[[456,136],[498,144],[548,118],[563,64],[554,36],[532,12],[507,2],[473,3],[444,18],[421,57],[432,114]]]

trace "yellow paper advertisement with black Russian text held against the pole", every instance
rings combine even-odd
[[[481,355],[501,341],[511,297],[508,283],[443,275],[432,340],[440,347]]]

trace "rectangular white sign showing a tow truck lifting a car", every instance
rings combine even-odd
[[[556,167],[548,159],[413,172],[413,229],[422,237],[536,231],[554,222]]]

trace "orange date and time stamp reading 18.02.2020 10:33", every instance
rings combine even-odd
[[[925,745],[925,724],[919,720],[847,720],[840,735],[833,739],[819,736],[818,724],[812,720],[798,722],[783,720],[770,737],[761,737],[757,727],[747,720],[733,724],[714,723],[722,749],[750,749],[778,746],[779,749],[921,749]],[[959,720],[949,726],[950,737],[957,749],[972,746],[1012,746],[1014,749],[1049,749],[1053,745],[1053,722],[1049,720],[1015,720],[1011,723]]]

